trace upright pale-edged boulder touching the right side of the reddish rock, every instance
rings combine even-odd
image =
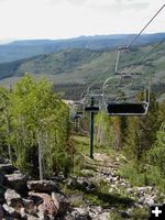
[[[58,216],[64,216],[69,208],[68,198],[62,193],[52,193],[52,199],[57,208]]]

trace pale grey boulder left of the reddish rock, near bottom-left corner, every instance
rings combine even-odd
[[[22,205],[21,196],[13,189],[7,189],[4,198],[7,200],[7,205],[13,208]]]

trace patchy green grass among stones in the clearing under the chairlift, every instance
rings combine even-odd
[[[111,209],[110,210],[110,220],[121,220],[122,215],[121,212],[127,211],[129,208],[132,209],[130,215],[130,220],[145,220],[147,219],[148,210],[147,207],[138,208],[134,207],[134,201],[138,200],[138,196],[133,194],[128,195],[127,188],[121,187],[117,184],[118,190],[110,190],[110,183],[103,178],[95,178],[101,168],[108,168],[113,165],[113,162],[119,161],[119,170],[117,175],[121,177],[128,178],[128,182],[132,186],[145,186],[148,184],[153,184],[156,186],[161,186],[162,190],[163,187],[165,188],[165,180],[161,178],[160,173],[157,169],[152,168],[147,169],[147,173],[144,173],[144,167],[138,166],[135,163],[128,161],[123,155],[122,152],[116,152],[110,147],[105,146],[97,146],[95,144],[95,153],[100,156],[105,155],[108,156],[108,162],[99,160],[91,160],[89,158],[89,136],[82,135],[73,135],[74,145],[77,148],[77,163],[75,163],[75,173],[73,176],[82,176],[87,179],[94,182],[96,188],[92,190],[87,190],[85,187],[75,185],[72,187],[64,187],[64,193],[66,195],[77,195],[77,199],[72,202],[73,207],[86,207],[92,206],[100,206],[103,209]],[[95,142],[96,143],[96,142]],[[79,157],[78,157],[79,156]],[[95,154],[96,156],[96,154]],[[164,196],[162,194],[157,197],[158,202],[164,202]],[[113,209],[112,209],[113,208]]]

